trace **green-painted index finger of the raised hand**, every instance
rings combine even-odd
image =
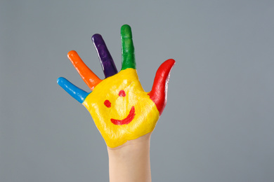
[[[136,69],[134,46],[132,41],[131,27],[123,25],[121,27],[122,41],[122,70],[132,68]]]

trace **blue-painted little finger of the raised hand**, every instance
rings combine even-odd
[[[57,79],[58,85],[63,87],[63,89],[69,93],[74,99],[76,99],[81,104],[84,102],[84,99],[89,95],[88,92],[81,90],[79,87],[70,83],[66,78],[60,77]]]

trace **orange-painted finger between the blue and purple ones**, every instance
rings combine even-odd
[[[93,90],[93,88],[101,82],[100,78],[98,78],[98,76],[96,76],[96,74],[93,73],[91,69],[86,66],[86,64],[84,64],[75,50],[68,52],[67,57],[70,59],[70,62],[72,62],[81,78],[91,90]]]

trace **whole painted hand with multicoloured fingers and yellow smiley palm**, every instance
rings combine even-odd
[[[131,27],[123,25],[122,70],[117,71],[102,36],[95,34],[92,41],[98,52],[105,79],[100,80],[74,50],[67,57],[92,92],[88,93],[58,78],[57,83],[74,99],[83,104],[102,134],[107,146],[115,148],[126,141],[137,139],[155,128],[167,104],[167,84],[174,59],[159,66],[151,92],[145,92],[138,80]]]

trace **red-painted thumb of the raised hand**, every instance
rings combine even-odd
[[[170,71],[174,64],[174,59],[168,59],[159,66],[152,85],[152,90],[148,94],[150,99],[152,99],[157,106],[159,115],[162,114],[164,107],[167,104],[167,85],[169,83]]]

